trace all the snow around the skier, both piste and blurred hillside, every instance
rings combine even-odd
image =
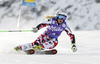
[[[7,1],[7,0],[5,0]],[[10,7],[0,1],[0,30],[16,30],[21,0]],[[56,55],[26,55],[13,48],[33,42],[46,28],[33,32],[0,32],[0,64],[100,64],[100,3],[95,0],[36,0],[38,23],[45,15],[52,15],[58,8],[68,11],[67,23],[76,37],[77,52],[72,52],[69,36],[63,32],[58,38]],[[63,5],[62,5],[63,4]],[[26,11],[25,11],[26,10]],[[16,13],[15,13],[16,12]],[[23,7],[19,29],[32,29],[37,24],[31,7]],[[80,31],[75,31],[80,30]]]

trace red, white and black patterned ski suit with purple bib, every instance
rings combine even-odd
[[[35,45],[41,45],[43,49],[52,49],[58,44],[58,37],[62,33],[62,31],[66,31],[70,36],[71,42],[75,43],[74,34],[72,34],[70,28],[67,23],[64,21],[61,25],[58,25],[55,18],[49,19],[37,26],[38,30],[43,27],[47,27],[47,30],[41,34],[33,43],[27,43],[21,45],[20,48],[22,50],[29,49],[34,47]]]

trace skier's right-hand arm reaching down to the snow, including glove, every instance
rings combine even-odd
[[[70,36],[71,43],[72,43],[72,48],[71,49],[73,50],[73,52],[76,52],[77,48],[76,48],[76,45],[75,45],[75,36],[74,36],[74,34],[72,34],[72,32],[71,32],[71,30],[68,26],[65,28],[65,31]]]

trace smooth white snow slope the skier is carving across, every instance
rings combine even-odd
[[[65,32],[59,37],[56,55],[26,55],[13,50],[19,44],[33,42],[44,29],[38,33],[0,33],[0,64],[100,64],[100,30],[73,31],[78,48],[75,53]]]

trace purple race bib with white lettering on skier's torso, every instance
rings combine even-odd
[[[61,25],[58,25],[55,18],[53,18],[50,26],[47,28],[47,31],[49,32],[48,35],[54,38],[58,38],[58,36],[60,36],[62,31],[65,30],[66,26],[67,26],[66,22],[63,22]]]

